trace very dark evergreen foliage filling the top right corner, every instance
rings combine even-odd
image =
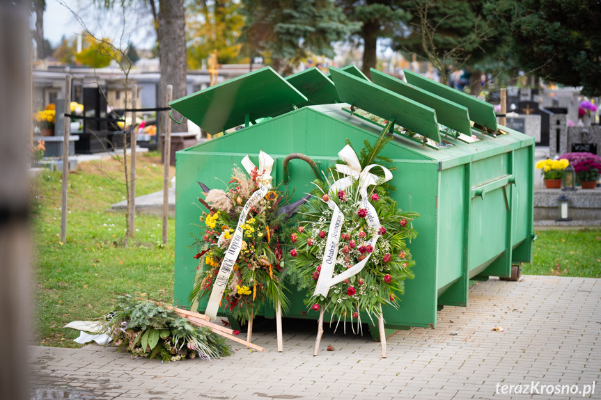
[[[601,6],[597,0],[491,0],[513,24],[511,50],[523,70],[601,96]]]

